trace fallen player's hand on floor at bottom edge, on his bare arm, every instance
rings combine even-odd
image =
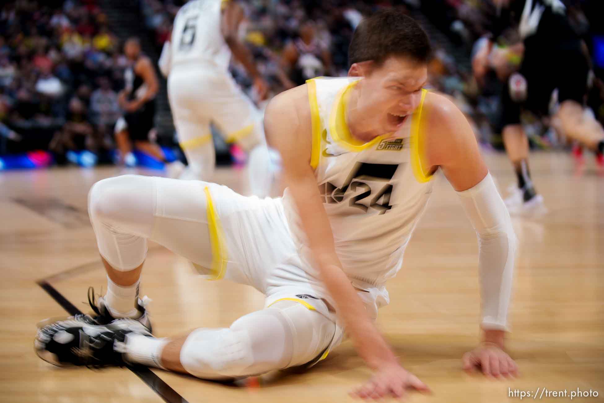
[[[364,385],[350,392],[353,398],[381,399],[402,398],[406,389],[416,389],[420,392],[431,393],[430,388],[399,364],[377,370],[373,377]]]

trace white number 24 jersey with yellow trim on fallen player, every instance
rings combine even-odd
[[[432,192],[422,168],[420,124],[423,100],[405,118],[396,137],[359,143],[344,111],[356,77],[307,81],[312,112],[312,156],[323,207],[344,272],[359,288],[384,285],[402,266],[403,251]],[[286,189],[284,210],[301,255],[310,255]],[[307,261],[312,266],[312,260]],[[356,281],[355,281],[356,280]]]

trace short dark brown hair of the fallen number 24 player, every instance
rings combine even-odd
[[[428,62],[428,34],[410,16],[396,8],[377,11],[356,27],[348,48],[349,64],[372,60],[381,65],[390,56]]]

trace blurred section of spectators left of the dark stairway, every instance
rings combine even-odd
[[[0,8],[0,153],[112,147],[126,58],[96,0]]]

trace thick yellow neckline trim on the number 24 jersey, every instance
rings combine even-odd
[[[352,134],[350,134],[348,124],[346,124],[346,105],[350,97],[349,90],[357,85],[358,82],[359,80],[353,81],[341,89],[333,102],[332,112],[329,115],[329,134],[332,136],[333,141],[352,152],[362,151],[382,140],[382,136],[377,136],[368,143],[363,143],[353,138]]]

